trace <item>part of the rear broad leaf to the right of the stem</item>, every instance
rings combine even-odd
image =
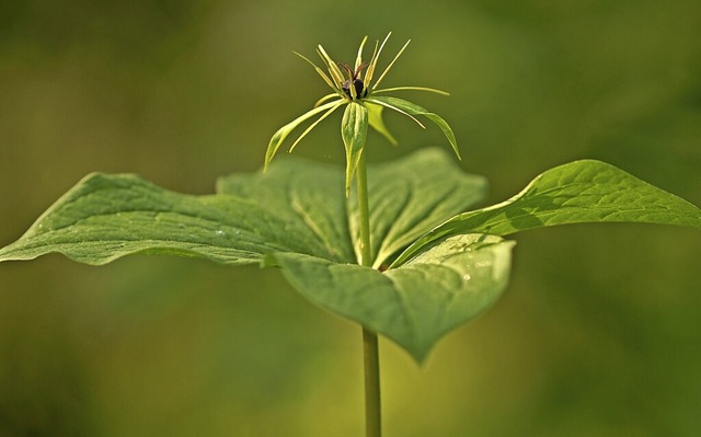
[[[389,263],[446,217],[474,206],[486,188],[485,179],[466,174],[455,158],[440,148],[422,149],[390,163],[368,165],[374,267]],[[356,200],[350,197],[350,210],[356,209]],[[358,253],[355,216],[350,218],[350,234]]]

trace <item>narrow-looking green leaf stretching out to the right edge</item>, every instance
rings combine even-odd
[[[401,265],[446,235],[507,235],[527,229],[584,222],[636,222],[701,228],[701,209],[600,161],[551,169],[510,199],[460,214],[420,238],[394,262]]]

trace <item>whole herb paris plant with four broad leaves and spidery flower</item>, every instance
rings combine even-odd
[[[438,340],[505,289],[514,242],[504,235],[581,222],[701,228],[698,207],[599,161],[548,170],[510,199],[467,212],[483,198],[486,182],[463,173],[439,149],[366,166],[368,126],[394,142],[382,123],[383,108],[426,116],[456,153],[457,145],[443,118],[377,95],[436,91],[376,90],[406,45],[372,84],[387,38],[367,65],[365,42],[353,68],[334,64],[319,46],[329,76],[314,68],[334,93],[274,135],[266,172],[221,177],[217,193],[207,196],[173,193],[136,175],[88,175],[18,241],[0,249],[0,262],[58,252],[91,265],[130,254],[166,254],[278,266],[310,301],[359,323],[366,333],[392,340],[421,363]],[[344,104],[345,171],[291,157],[271,162],[301,123],[322,114],[292,148]],[[379,403],[368,415],[372,412],[377,416],[369,418],[367,435],[379,436]]]

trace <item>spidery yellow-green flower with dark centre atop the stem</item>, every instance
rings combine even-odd
[[[360,156],[363,154],[363,150],[365,149],[368,125],[379,134],[381,134],[384,138],[387,138],[387,140],[392,145],[397,145],[397,140],[389,133],[389,130],[384,126],[384,122],[382,120],[382,111],[384,108],[397,111],[398,113],[410,117],[422,128],[425,128],[425,126],[415,116],[424,116],[428,118],[443,130],[443,133],[448,138],[448,141],[450,141],[450,145],[458,156],[458,159],[460,159],[460,152],[458,151],[458,145],[456,142],[455,134],[452,133],[452,129],[450,129],[450,126],[448,126],[446,120],[412,102],[407,102],[399,97],[381,95],[391,91],[405,90],[428,91],[443,95],[449,95],[447,92],[425,87],[397,87],[386,88],[382,90],[378,89],[379,84],[382,82],[382,79],[384,79],[394,62],[397,62],[397,59],[399,59],[399,57],[402,55],[411,39],[407,41],[406,44],[404,44],[397,56],[394,56],[394,59],[378,77],[377,81],[372,83],[372,79],[377,69],[378,58],[380,57],[382,48],[384,47],[384,44],[387,43],[391,34],[392,33],[390,32],[384,37],[382,44],[379,44],[379,42],[375,43],[375,50],[372,51],[372,57],[370,58],[369,62],[363,61],[363,47],[365,46],[368,37],[366,36],[365,38],[363,38],[360,47],[358,48],[358,56],[353,67],[347,64],[334,62],[333,59],[331,59],[331,57],[326,54],[326,50],[324,50],[324,48],[319,45],[317,47],[317,53],[329,70],[329,74],[326,74],[321,68],[319,68],[307,57],[295,51],[296,55],[314,67],[319,76],[321,76],[324,82],[326,82],[326,84],[331,87],[334,92],[321,97],[314,104],[313,110],[280,127],[275,133],[275,135],[273,135],[273,138],[271,138],[271,142],[267,146],[267,151],[265,152],[264,169],[267,169],[267,165],[271,163],[271,160],[279,149],[283,141],[285,141],[287,136],[291,134],[292,130],[295,130],[299,125],[304,123],[307,119],[321,114],[321,116],[309,127],[307,127],[307,129],[302,131],[297,140],[292,142],[292,146],[289,148],[290,152],[295,149],[295,147],[297,147],[299,141],[304,138],[304,136],[307,136],[307,134],[309,134],[319,123],[329,117],[331,114],[333,114],[334,111],[343,105],[346,105],[346,110],[341,122],[341,136],[346,148],[346,194],[350,189],[350,182],[353,180],[353,176],[355,175],[358,161],[360,159]]]

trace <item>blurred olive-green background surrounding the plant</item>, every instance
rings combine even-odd
[[[205,194],[326,93],[310,57],[393,31],[384,84],[453,127],[489,202],[579,158],[701,205],[698,0],[0,2],[0,244],[91,171]],[[340,117],[340,115],[338,115]],[[343,163],[338,118],[299,147]],[[400,116],[392,148],[446,141]],[[444,145],[448,148],[448,145]],[[418,368],[381,343],[388,437],[701,435],[701,233],[516,237],[513,281]],[[0,436],[359,436],[360,332],[278,272],[0,265]]]

